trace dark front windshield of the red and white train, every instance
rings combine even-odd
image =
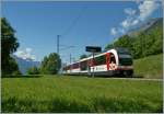
[[[131,66],[132,65],[131,55],[126,55],[126,54],[119,55],[119,65],[120,66]]]

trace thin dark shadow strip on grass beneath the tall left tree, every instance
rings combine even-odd
[[[40,76],[40,75],[23,75],[23,76],[2,76],[1,78],[40,78],[40,77],[44,77],[44,76]]]

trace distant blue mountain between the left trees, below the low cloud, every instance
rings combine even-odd
[[[16,60],[17,65],[19,65],[19,69],[20,71],[25,75],[27,69],[35,66],[35,67],[39,67],[40,66],[40,61],[34,61],[32,59],[23,59],[20,58],[15,55],[13,55],[13,58]]]

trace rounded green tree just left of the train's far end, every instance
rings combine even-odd
[[[42,61],[40,72],[47,75],[55,75],[60,70],[61,59],[58,54],[51,53]]]

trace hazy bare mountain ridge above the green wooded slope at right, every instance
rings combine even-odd
[[[149,19],[145,22],[140,23],[138,26],[128,31],[130,37],[136,37],[140,32],[150,32],[155,26],[163,25],[163,18]]]

